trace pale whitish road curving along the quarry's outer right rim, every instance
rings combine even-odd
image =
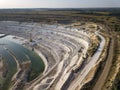
[[[84,69],[79,74],[79,76],[77,78],[75,78],[75,80],[70,84],[70,87],[68,88],[68,90],[75,90],[78,86],[82,87],[82,85],[84,85],[84,82],[82,82],[82,81],[85,79],[85,77],[87,76],[89,71],[95,66],[97,60],[99,59],[99,57],[104,49],[105,38],[102,35],[100,35],[98,32],[95,32],[95,34],[101,38],[101,43],[100,43],[96,53],[91,58],[90,62],[87,63],[87,65],[84,67]]]

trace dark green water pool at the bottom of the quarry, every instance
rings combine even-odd
[[[5,48],[8,48],[10,51],[12,51],[20,63],[31,61],[31,71],[28,75],[28,81],[35,79],[44,71],[45,65],[35,52],[23,47],[18,43],[12,42],[12,40],[9,40],[9,36],[2,37],[0,38],[0,55],[2,55],[4,58],[8,68],[7,76],[3,82],[5,84],[5,88],[9,86],[12,76],[17,71],[17,65],[14,58]]]

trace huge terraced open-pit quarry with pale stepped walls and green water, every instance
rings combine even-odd
[[[0,21],[0,90],[80,90],[105,57],[101,28]]]

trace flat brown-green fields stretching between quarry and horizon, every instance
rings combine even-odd
[[[0,21],[70,24],[93,21],[120,31],[120,8],[102,9],[10,9],[0,10]]]

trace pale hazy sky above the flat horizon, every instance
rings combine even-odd
[[[120,7],[120,0],[0,0],[0,8]]]

